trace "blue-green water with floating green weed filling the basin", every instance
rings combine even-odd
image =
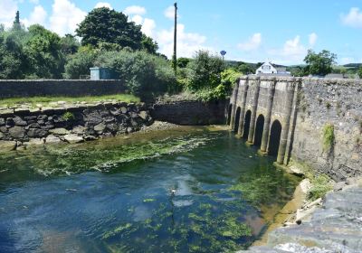
[[[229,252],[298,179],[200,127],[0,155],[0,252]]]

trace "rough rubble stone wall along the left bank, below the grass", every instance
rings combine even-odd
[[[0,149],[79,143],[139,130],[153,122],[145,105],[104,103],[71,108],[0,111]]]

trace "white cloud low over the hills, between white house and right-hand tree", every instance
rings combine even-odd
[[[300,44],[300,35],[286,41],[281,49],[267,51],[269,55],[274,57],[271,61],[281,64],[301,63],[307,52],[307,48]]]

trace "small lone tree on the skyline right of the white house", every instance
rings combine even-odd
[[[304,61],[307,63],[307,71],[310,75],[325,76],[332,71],[332,66],[336,64],[337,55],[327,50],[316,53],[308,51]]]

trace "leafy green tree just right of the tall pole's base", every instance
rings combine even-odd
[[[195,54],[195,60],[188,65],[190,68],[190,89],[215,88],[221,83],[221,72],[224,70],[224,61],[218,55],[207,51]]]

